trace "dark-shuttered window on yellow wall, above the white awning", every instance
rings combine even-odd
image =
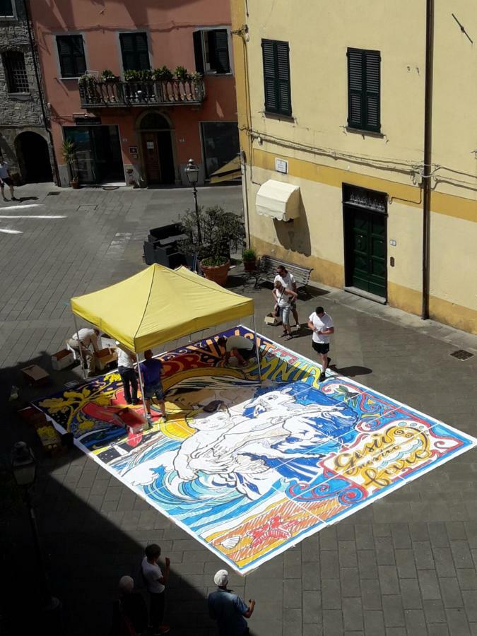
[[[265,111],[291,116],[290,47],[288,42],[261,40]]]

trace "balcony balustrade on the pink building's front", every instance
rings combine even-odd
[[[204,80],[98,81],[79,83],[81,107],[199,106],[204,102]]]

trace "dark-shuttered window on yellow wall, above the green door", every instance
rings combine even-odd
[[[381,131],[381,54],[348,49],[348,126]]]

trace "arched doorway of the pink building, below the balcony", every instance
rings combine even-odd
[[[159,112],[147,112],[137,122],[144,172],[148,185],[174,184],[175,159],[172,126]]]

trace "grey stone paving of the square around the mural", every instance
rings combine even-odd
[[[206,596],[223,563],[76,449],[42,457],[33,432],[18,418],[20,404],[5,402],[12,383],[20,386],[23,404],[77,377],[74,369],[52,371],[51,387],[28,389],[19,370],[30,360],[50,368],[49,355],[73,332],[69,298],[141,269],[147,230],[175,220],[192,202],[191,193],[28,186],[19,188],[17,196],[38,199],[8,204],[0,213],[0,230],[23,232],[0,234],[1,452],[5,466],[11,444],[23,438],[41,458],[35,505],[52,589],[64,604],[64,634],[107,633],[117,581],[128,573],[139,580],[142,550],[151,541],[160,543],[171,559],[171,634],[216,634]],[[203,189],[199,200],[239,211],[240,189]],[[33,204],[37,207],[20,207]],[[254,298],[259,330],[276,339],[277,329],[262,322],[271,305],[270,290],[254,289],[239,270],[232,271],[230,282],[238,293]],[[340,372],[477,435],[477,355],[465,362],[449,355],[457,348],[477,353],[475,336],[324,286],[310,300],[300,300],[302,322],[317,304],[334,317],[331,355]],[[306,332],[288,345],[312,357]],[[5,471],[2,475],[0,494],[5,495],[11,484],[5,486]],[[477,634],[476,483],[473,449],[247,577],[232,573],[233,589],[257,600],[249,620],[252,634]],[[12,610],[20,599],[23,611],[12,626],[11,611],[4,608],[0,625],[5,634],[25,633],[31,613],[24,611],[20,591],[33,558],[28,517],[13,490],[2,500],[8,506],[1,515],[3,565],[11,569],[4,603]]]

